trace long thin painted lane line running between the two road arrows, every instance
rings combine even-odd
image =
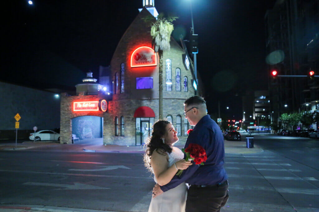
[[[69,176],[84,176],[84,177],[116,177],[116,178],[134,178],[152,180],[152,177],[133,177],[133,176],[115,176],[115,175],[102,175],[102,174],[71,174],[71,173],[55,173],[55,172],[34,172],[34,171],[18,171],[18,170],[4,170],[0,169],[0,172],[13,172],[13,173],[30,173],[30,174],[52,174],[52,175],[69,175]]]

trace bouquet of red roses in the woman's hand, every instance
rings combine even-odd
[[[192,160],[197,165],[204,165],[207,160],[207,155],[205,149],[198,144],[189,144],[186,149],[182,149],[186,154],[185,161]],[[179,170],[176,175],[181,176],[183,170]]]

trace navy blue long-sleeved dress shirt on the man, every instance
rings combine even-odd
[[[204,165],[193,165],[185,169],[181,176],[174,176],[173,179],[164,186],[160,186],[162,191],[175,188],[182,182],[189,185],[215,185],[228,179],[223,167],[225,157],[224,136],[219,126],[209,115],[205,115],[193,131],[189,133],[184,148],[189,144],[198,144],[204,147],[207,154],[207,161]],[[184,158],[186,155],[184,154]]]

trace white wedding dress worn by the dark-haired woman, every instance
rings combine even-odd
[[[176,151],[168,154],[168,167],[172,166],[176,161],[184,158],[183,152],[175,148]],[[154,172],[153,172],[154,173]],[[154,181],[157,183],[155,176]],[[152,198],[148,212],[185,212],[187,198],[186,183],[178,185],[163,194]]]

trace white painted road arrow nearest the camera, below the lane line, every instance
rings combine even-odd
[[[57,188],[56,190],[110,189],[110,188],[92,186],[92,185],[87,185],[87,184],[77,183],[77,182],[75,182],[74,185],[58,184],[58,183],[43,183],[43,182],[26,182],[26,183],[23,183],[23,185],[64,187],[64,188]]]

